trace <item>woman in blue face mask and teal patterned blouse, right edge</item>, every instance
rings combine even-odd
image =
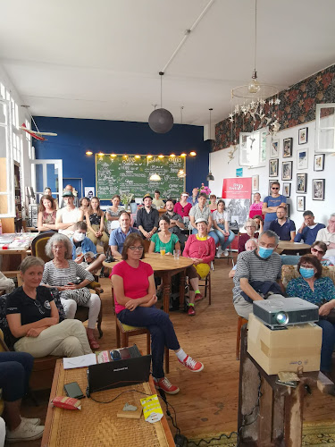
[[[289,282],[286,292],[289,297],[306,299],[320,307],[320,320],[316,323],[322,327],[320,369],[322,372],[330,373],[331,356],[335,345],[335,325],[324,318],[335,308],[335,286],[331,278],[322,277],[322,265],[313,255],[300,257],[297,271],[301,276]]]

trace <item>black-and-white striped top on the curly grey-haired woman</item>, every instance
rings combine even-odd
[[[83,266],[68,259],[69,266],[67,268],[56,268],[53,261],[46,263],[44,267],[42,283],[52,286],[63,286],[68,283],[74,283],[79,277],[81,281],[94,281],[93,274],[85,270]]]

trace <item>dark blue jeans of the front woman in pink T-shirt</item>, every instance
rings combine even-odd
[[[153,375],[160,379],[164,376],[163,358],[165,346],[169,350],[179,350],[180,343],[174,332],[174,327],[169,315],[163,310],[155,308],[141,308],[135,310],[123,309],[117,317],[125,325],[135,327],[147,327],[151,334],[151,353],[153,361]]]

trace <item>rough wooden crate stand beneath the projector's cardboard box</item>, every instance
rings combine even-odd
[[[247,353],[247,325],[242,327],[238,415],[240,447],[301,446],[306,386],[332,393],[334,384],[319,371],[301,374],[299,378],[297,388],[276,384],[277,375],[267,375]]]

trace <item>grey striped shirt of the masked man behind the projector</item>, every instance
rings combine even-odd
[[[232,300],[239,299],[242,289],[239,285],[241,278],[251,281],[270,281],[274,283],[281,279],[281,257],[272,252],[267,259],[259,257],[254,251],[243,251],[239,253],[236,273],[234,276],[235,287],[232,290]]]

